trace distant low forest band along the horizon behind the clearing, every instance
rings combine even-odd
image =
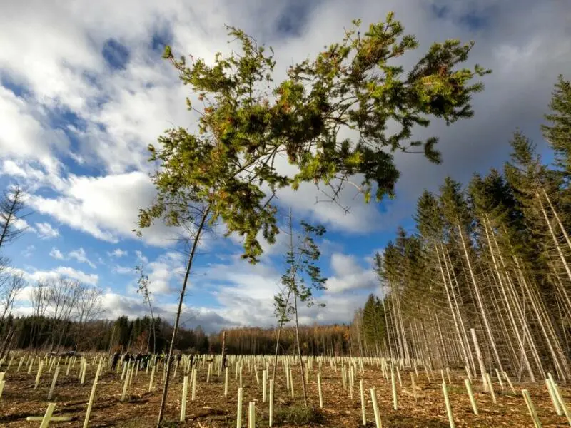
[[[161,318],[154,319],[156,346],[151,317],[118,317],[115,321],[54,320],[51,317],[7,317],[0,330],[4,341],[3,355],[8,349],[29,349],[41,352],[153,352],[168,350],[173,327]],[[222,332],[206,334],[201,327],[182,328],[176,341],[180,352],[201,354],[221,352]],[[345,355],[350,351],[350,332],[345,325],[314,325],[300,327],[303,352],[307,355]],[[294,351],[295,331],[286,327],[279,352]],[[355,347],[355,351],[358,347]],[[226,352],[231,354],[273,354],[276,351],[276,330],[273,328],[238,327],[226,330]],[[1,358],[1,357],[0,357]]]

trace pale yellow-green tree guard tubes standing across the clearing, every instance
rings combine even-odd
[[[247,419],[248,428],[256,427],[256,409],[259,407],[267,407],[267,422],[268,426],[272,427],[274,425],[274,404],[276,402],[276,373],[273,373],[272,371],[274,356],[229,355],[227,360],[228,366],[224,368],[222,368],[221,360],[221,355],[201,355],[196,357],[194,360],[191,360],[189,356],[183,356],[180,361],[176,360],[174,362],[173,379],[181,379],[182,377],[182,395],[180,402],[181,422],[186,420],[189,391],[191,402],[194,402],[197,394],[200,394],[200,390],[198,389],[198,373],[201,372],[203,374],[206,373],[205,376],[203,376],[203,379],[207,384],[211,383],[214,376],[223,376],[223,388],[221,388],[221,395],[223,397],[228,397],[229,395],[228,384],[231,382],[231,374],[233,374],[233,382],[237,387],[236,428],[243,427],[243,419]],[[283,377],[280,377],[279,379],[285,379],[285,390],[292,399],[295,399],[296,394],[298,394],[298,392],[296,392],[298,389],[295,387],[293,372],[294,367],[300,365],[299,359],[298,357],[281,356],[278,360],[278,370],[283,373]],[[16,361],[18,362],[17,365]],[[461,372],[451,371],[448,367],[440,369],[439,371],[432,370],[430,365],[423,365],[420,360],[413,360],[412,365],[410,367],[406,367],[405,360],[403,359],[390,360],[384,357],[303,357],[302,362],[305,370],[301,377],[301,383],[309,384],[312,381],[316,383],[318,390],[318,402],[321,409],[324,408],[325,403],[327,402],[327,396],[323,390],[326,370],[328,370],[328,376],[326,376],[325,382],[327,382],[327,384],[340,382],[340,386],[343,387],[345,392],[348,392],[350,399],[354,399],[354,389],[355,384],[357,383],[356,379],[360,376],[361,378],[358,380],[358,394],[361,405],[363,426],[365,426],[369,420],[368,409],[372,409],[375,425],[380,428],[383,426],[383,414],[378,404],[378,385],[368,385],[369,387],[365,387],[365,383],[369,383],[366,379],[368,372],[380,372],[385,380],[390,384],[393,410],[395,411],[400,409],[399,388],[402,390],[405,387],[410,387],[415,405],[417,404],[419,399],[417,382],[419,377],[424,376],[426,381],[429,383],[437,382],[441,384],[448,423],[451,428],[455,427],[453,403],[450,401],[448,388],[450,385],[453,385],[454,377],[458,377],[458,374]],[[53,372],[51,386],[46,397],[49,402],[46,413],[43,417],[30,416],[27,418],[29,421],[41,421],[41,428],[48,427],[50,422],[72,420],[70,417],[54,416],[56,403],[51,402],[51,400],[56,392],[56,383],[61,372],[65,372],[66,377],[76,377],[79,384],[84,384],[88,373],[94,372],[93,384],[84,417],[84,428],[89,427],[89,418],[91,416],[91,410],[94,407],[98,379],[101,373],[107,372],[115,374],[116,377],[113,382],[122,382],[122,402],[125,402],[127,399],[128,389],[131,387],[133,378],[137,378],[138,376],[143,375],[143,373],[148,376],[148,392],[151,393],[155,391],[155,377],[158,372],[161,372],[163,382],[166,380],[166,365],[162,360],[156,360],[156,357],[153,357],[144,369],[141,368],[141,362],[126,362],[123,363],[122,366],[117,365],[116,370],[113,373],[113,371],[111,371],[110,361],[104,355],[94,355],[89,357],[89,359],[86,357],[61,358],[54,356],[41,358],[19,355],[17,352],[14,352],[12,355],[6,356],[0,360],[0,367],[4,367],[4,371],[0,372],[0,399],[2,391],[6,385],[6,380],[4,380],[6,373],[27,372],[27,374],[31,376],[35,375],[34,389],[36,389],[41,382],[42,375],[44,374],[45,376],[45,372]],[[248,412],[246,413],[246,417],[243,415],[243,407],[246,404],[246,398],[244,397],[245,385],[243,381],[245,370],[248,370],[250,379],[255,379],[257,385],[262,384],[261,397],[257,397],[248,402]],[[408,370],[410,374],[410,384],[408,384],[408,382],[405,384],[406,377],[403,376],[403,373],[406,370]],[[500,387],[500,390],[497,392],[495,391],[497,385],[494,385],[494,380]],[[504,383],[504,381],[506,383]],[[497,369],[494,370],[493,376],[490,372],[482,370],[479,379],[474,379],[470,374],[470,370],[465,370],[463,384],[465,386],[465,393],[468,394],[470,399],[472,411],[476,416],[480,414],[480,410],[478,409],[477,400],[474,394],[475,387],[480,388],[481,385],[482,392],[489,394],[494,404],[497,403],[498,395],[517,395],[517,389],[509,375],[505,371]],[[507,391],[506,385],[509,387],[509,391]],[[570,409],[563,398],[559,385],[555,382],[552,374],[550,373],[547,374],[545,379],[545,387],[552,402],[555,414],[562,418],[565,417],[567,422],[571,425]],[[303,388],[303,391],[305,392],[305,387]],[[528,389],[521,389],[521,394],[527,406],[527,410],[530,413],[532,423],[536,428],[541,427],[542,425],[530,396],[530,392]],[[261,403],[257,404],[256,401]]]

